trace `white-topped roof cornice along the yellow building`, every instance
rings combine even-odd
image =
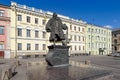
[[[20,5],[20,4],[17,4],[15,2],[11,3],[11,9],[12,10],[17,9],[18,12],[27,13],[27,14],[36,15],[36,16],[41,16],[44,18],[51,18],[52,14],[53,14],[52,12],[49,12],[49,11],[35,9],[33,7],[28,7],[26,5]],[[58,17],[60,17],[63,22],[67,22],[67,23],[79,25],[79,26],[84,26],[84,27],[86,26],[86,22],[83,22],[83,21],[75,20],[75,19],[69,18],[67,16],[60,15],[60,14],[58,14]]]

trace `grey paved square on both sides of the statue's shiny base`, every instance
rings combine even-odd
[[[16,59],[0,59],[0,62],[12,62]],[[28,62],[40,62],[44,61],[44,58],[37,58],[37,59],[19,59],[20,63],[22,64],[17,68],[17,75],[15,75],[10,80],[26,80],[26,70],[27,70],[27,63]],[[109,70],[112,70],[115,74],[113,80],[120,80],[120,58],[114,58],[111,56],[76,56],[70,57],[70,60],[74,60],[77,62],[84,63],[86,60],[90,61],[91,64],[103,67]]]

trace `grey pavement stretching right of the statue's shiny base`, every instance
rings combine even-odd
[[[91,64],[106,68],[114,73],[113,80],[120,80],[120,57],[111,56],[77,56],[71,57],[71,60],[79,61],[84,63],[86,60],[90,61]]]

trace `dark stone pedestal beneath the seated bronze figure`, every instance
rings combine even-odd
[[[64,45],[48,46],[49,52],[46,55],[46,62],[50,66],[66,66],[69,65],[69,48]]]

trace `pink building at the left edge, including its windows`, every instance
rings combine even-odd
[[[10,51],[9,28],[10,28],[10,8],[6,5],[0,5],[0,57]]]

